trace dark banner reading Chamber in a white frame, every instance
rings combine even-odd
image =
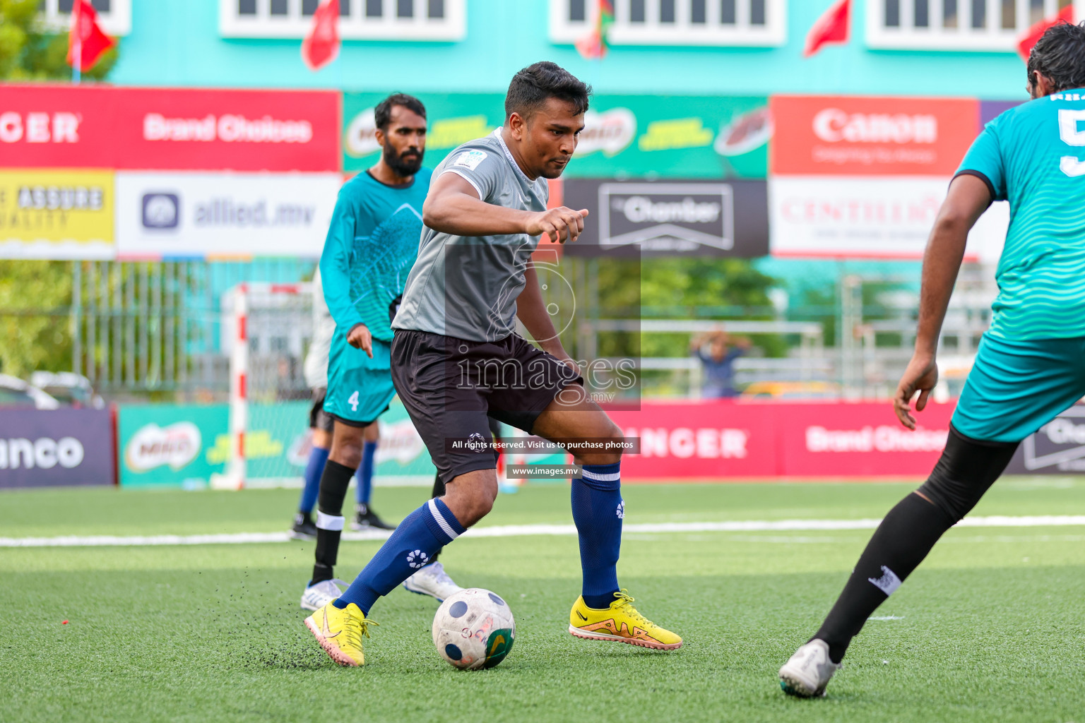
[[[590,211],[574,256],[768,254],[764,181],[570,179],[564,204]]]

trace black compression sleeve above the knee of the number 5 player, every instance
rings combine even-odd
[[[972,439],[949,425],[946,449],[919,493],[959,522],[1005,472],[1018,444]]]

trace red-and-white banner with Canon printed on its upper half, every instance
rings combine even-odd
[[[978,121],[995,111],[969,99],[810,95],[773,96],[770,107],[773,255],[901,259],[922,258]],[[997,259],[1008,224],[1007,205],[992,205],[966,259]]]

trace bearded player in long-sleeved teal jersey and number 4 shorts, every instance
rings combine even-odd
[[[316,564],[302,593],[302,607],[308,610],[327,605],[342,592],[333,567],[343,530],[343,501],[359,466],[363,467],[359,489],[368,487],[376,418],[396,393],[390,360],[391,321],[418,256],[422,204],[432,176],[429,168],[422,168],[426,122],[421,101],[394,93],[378,104],[374,120],[381,159],[343,185],[320,257],[324,300],[335,321],[323,406],[334,419],[334,429],[320,478]],[[368,494],[359,496],[359,503],[368,501]],[[368,517],[374,519],[371,514]],[[405,586],[438,599],[460,590],[433,558]]]

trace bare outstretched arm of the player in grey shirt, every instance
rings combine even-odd
[[[554,242],[576,241],[584,231],[587,210],[551,208],[523,211],[488,204],[462,176],[442,173],[430,186],[422,206],[422,222],[434,231],[456,236],[547,234]]]

